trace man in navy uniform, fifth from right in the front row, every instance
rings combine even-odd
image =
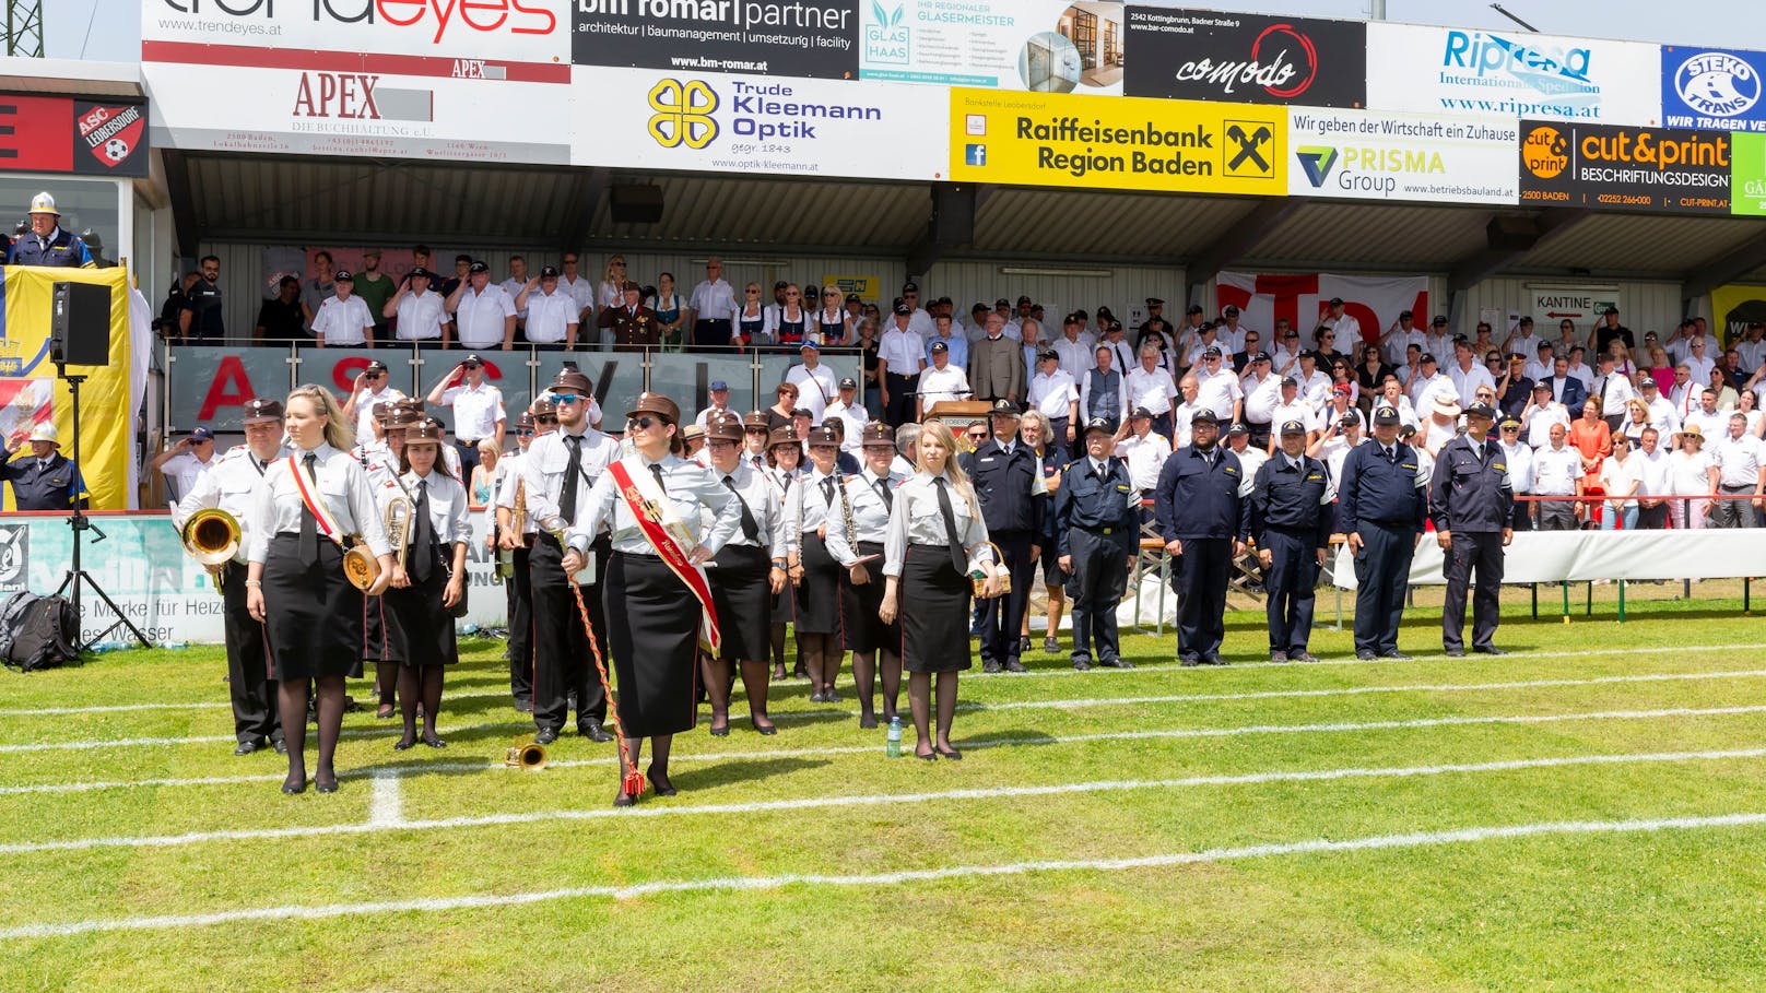
[[[1111,454],[1116,424],[1093,417],[1084,426],[1084,458],[1061,472],[1054,491],[1054,555],[1074,601],[1074,668],[1091,668],[1097,641],[1100,666],[1132,670],[1116,638],[1116,604],[1128,585],[1128,557],[1141,534],[1141,493],[1128,465]]]

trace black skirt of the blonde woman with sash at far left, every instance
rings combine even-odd
[[[343,550],[320,539],[318,562],[300,564],[300,535],[270,539],[263,562],[263,633],[275,680],[360,673],[366,597],[343,574]]]

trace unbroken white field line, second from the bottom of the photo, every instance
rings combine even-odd
[[[438,830],[464,827],[493,827],[512,823],[542,822],[581,822],[606,818],[662,818],[662,816],[729,816],[777,811],[807,809],[848,809],[876,807],[892,804],[922,804],[931,800],[996,800],[1015,797],[1056,797],[1072,793],[1121,792],[1121,790],[1176,790],[1189,786],[1226,786],[1256,783],[1307,783],[1330,779],[1386,779],[1446,774],[1508,772],[1517,769],[1561,769],[1577,765],[1634,765],[1651,762],[1725,762],[1766,756],[1766,749],[1732,751],[1667,751],[1648,754],[1586,754],[1561,758],[1529,758],[1506,762],[1480,762],[1459,765],[1413,765],[1386,769],[1323,769],[1293,772],[1245,772],[1220,776],[1187,776],[1176,779],[1100,779],[1090,783],[1060,783],[1051,786],[984,786],[968,790],[940,790],[925,793],[865,793],[848,797],[807,797],[784,800],[751,800],[743,804],[685,804],[685,806],[638,806],[638,807],[593,807],[562,811],[500,813],[479,816],[454,816],[431,820],[401,820],[397,823],[332,823],[304,827],[263,827],[233,830],[201,830],[191,834],[159,836],[118,836],[118,838],[76,838],[65,841],[23,841],[0,845],[0,855],[23,855],[32,852],[83,852],[94,848],[175,848],[184,845],[201,845],[208,841],[260,841],[270,838],[325,838],[339,834],[380,834],[385,830]]]

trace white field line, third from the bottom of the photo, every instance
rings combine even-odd
[[[1360,721],[1330,724],[1250,724],[1226,728],[1171,728],[1143,731],[1100,731],[1090,735],[1033,735],[1012,739],[966,739],[959,744],[966,749],[987,747],[1023,747],[1053,744],[1091,744],[1125,740],[1160,740],[1160,739],[1219,739],[1234,735],[1309,735],[1309,733],[1353,733],[1353,731],[1392,731],[1413,728],[1452,728],[1462,724],[1547,724],[1561,721],[1657,721],[1672,717],[1732,717],[1747,714],[1766,714],[1766,705],[1745,707],[1664,707],[1657,710],[1589,710],[1582,714],[1519,714],[1519,716],[1462,716],[1462,717],[1416,717],[1406,721]],[[761,751],[676,751],[673,762],[756,762],[774,758],[821,758],[835,754],[876,754],[876,746],[830,746],[830,747],[786,747]],[[553,762],[547,769],[590,769],[618,763],[618,756],[574,758]],[[383,765],[378,769],[339,772],[343,779],[380,777],[380,776],[424,776],[440,772],[489,772],[505,769],[502,762],[429,762],[406,765]],[[148,786],[230,786],[237,783],[281,783],[283,774],[263,776],[196,776],[189,779],[94,779],[87,783],[32,783],[25,786],[0,786],[0,797],[19,793],[87,793],[94,790],[134,790]],[[4,850],[0,850],[4,852]]]

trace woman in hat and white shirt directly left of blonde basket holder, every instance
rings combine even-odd
[[[876,675],[883,664],[883,721],[895,717],[901,700],[901,627],[885,624],[878,608],[883,606],[883,539],[888,535],[888,514],[895,504],[895,488],[908,477],[892,474],[895,461],[895,429],[881,421],[864,428],[864,472],[848,475],[846,512],[828,521],[828,555],[846,569],[841,583],[841,629],[846,648],[853,652],[853,682],[858,686],[858,726],[876,728],[874,710]]]

